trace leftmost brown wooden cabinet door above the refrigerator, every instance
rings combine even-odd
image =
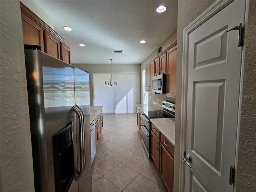
[[[44,52],[43,28],[24,13],[21,13],[21,20],[23,43],[28,45],[39,45]]]

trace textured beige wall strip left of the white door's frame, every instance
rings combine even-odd
[[[179,0],[178,1],[178,37],[177,37],[177,77],[176,77],[176,118],[175,118],[175,157],[174,157],[174,192],[179,189],[180,174],[180,120],[182,90],[182,49],[183,29],[195,20],[215,1]]]

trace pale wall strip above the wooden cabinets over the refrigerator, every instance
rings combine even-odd
[[[21,2],[26,5],[34,14],[41,18],[46,24],[54,29],[53,19],[46,14],[46,12],[34,1],[34,0],[21,0]]]

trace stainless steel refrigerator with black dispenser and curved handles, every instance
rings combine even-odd
[[[36,192],[92,191],[89,74],[25,46]]]

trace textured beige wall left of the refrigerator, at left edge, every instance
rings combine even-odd
[[[34,175],[19,1],[1,5],[1,192],[33,192]]]

